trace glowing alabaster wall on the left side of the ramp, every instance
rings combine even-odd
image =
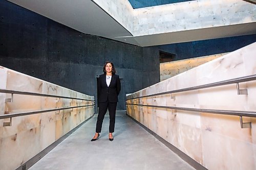
[[[0,66],[0,88],[94,100],[82,94]],[[71,106],[91,105],[93,102],[14,94],[12,103],[5,103],[10,94],[0,93],[0,115]],[[94,106],[66,109],[12,118],[12,126],[3,127],[0,120],[0,169],[16,169],[47,148],[61,136],[94,114]]]

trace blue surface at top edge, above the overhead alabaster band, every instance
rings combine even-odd
[[[153,7],[158,5],[187,2],[191,0],[129,0],[134,9]]]

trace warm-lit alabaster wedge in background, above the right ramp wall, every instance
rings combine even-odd
[[[189,70],[191,68],[204,64],[208,61],[214,60],[225,54],[227,53],[160,63],[160,81],[163,81],[170,77],[181,74],[186,70]]]

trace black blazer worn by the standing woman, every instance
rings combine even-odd
[[[112,75],[111,82],[108,87],[106,85],[106,75],[100,75],[98,79],[98,102],[118,102],[118,94],[121,90],[121,83],[118,75]]]

